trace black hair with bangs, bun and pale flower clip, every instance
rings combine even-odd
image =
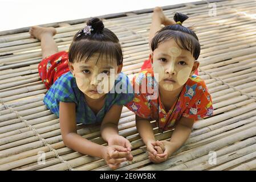
[[[99,18],[92,18],[87,22],[87,30],[90,26],[91,30],[84,33],[83,29],[78,31],[70,45],[68,51],[68,59],[70,63],[75,61],[88,61],[94,53],[107,55],[107,60],[116,60],[117,65],[123,63],[123,52],[117,36],[108,28],[104,27],[103,22]],[[89,28],[89,29],[90,29]]]

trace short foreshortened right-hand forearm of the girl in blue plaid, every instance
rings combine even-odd
[[[105,123],[100,129],[101,137],[108,142],[109,138],[119,135],[118,126],[114,123]]]

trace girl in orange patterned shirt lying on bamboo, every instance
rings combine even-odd
[[[137,130],[154,163],[164,162],[185,143],[194,122],[213,114],[205,82],[194,74],[199,66],[200,43],[190,28],[182,26],[187,18],[176,13],[174,22],[155,8],[149,39],[161,24],[169,25],[152,36],[152,67],[146,62],[143,68],[147,69],[133,77],[135,98],[125,105],[136,113]],[[155,140],[150,123],[153,120],[162,132],[174,129],[170,140]]]

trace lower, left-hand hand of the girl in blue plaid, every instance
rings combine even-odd
[[[106,146],[101,152],[102,158],[111,169],[116,169],[120,166],[121,162],[127,161],[130,154],[127,148],[122,146]]]

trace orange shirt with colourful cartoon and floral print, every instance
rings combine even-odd
[[[181,117],[192,118],[196,122],[198,119],[213,114],[212,97],[204,80],[199,76],[193,75],[186,81],[180,96],[169,111],[165,111],[160,97],[150,99],[153,94],[152,92],[149,93],[148,89],[146,89],[146,92],[141,92],[143,81],[146,80],[147,85],[154,85],[152,80],[155,79],[152,79],[152,77],[152,68],[144,69],[133,77],[133,88],[137,86],[139,92],[135,92],[135,98],[125,106],[141,118],[156,119],[159,122],[160,130],[173,129],[176,121]],[[151,81],[149,81],[150,79]]]

